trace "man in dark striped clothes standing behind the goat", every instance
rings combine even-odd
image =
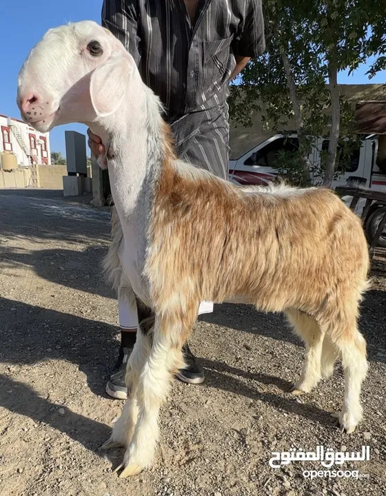
[[[165,107],[179,158],[227,179],[228,83],[265,50],[261,0],[104,0],[102,25],[122,41]],[[94,156],[104,153],[89,131]],[[202,302],[199,314],[212,312]],[[121,347],[106,391],[125,399],[125,365],[136,339],[136,309],[119,300]],[[203,382],[187,344],[177,376]]]

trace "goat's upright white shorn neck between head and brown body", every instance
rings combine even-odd
[[[121,225],[134,224],[142,232],[151,216],[161,174],[162,125],[159,101],[143,85],[142,92],[127,99],[113,116],[91,127],[105,145],[112,198]]]

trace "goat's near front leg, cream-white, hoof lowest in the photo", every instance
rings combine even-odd
[[[172,374],[185,366],[181,348],[194,320],[194,313],[190,317],[176,312],[156,315],[152,349],[139,378],[138,420],[119,477],[136,475],[152,464],[159,438],[159,410],[169,392]]]

